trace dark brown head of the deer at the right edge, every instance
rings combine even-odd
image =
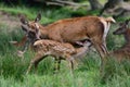
[[[125,33],[127,32],[127,29],[129,28],[129,27],[128,27],[129,21],[130,21],[130,20],[127,20],[127,21],[125,21],[123,23],[120,23],[120,24],[119,24],[119,28],[117,28],[113,34],[114,34],[114,35],[125,34]]]

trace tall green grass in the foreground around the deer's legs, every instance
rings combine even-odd
[[[18,32],[17,32],[18,33]],[[18,33],[21,34],[21,32]],[[130,63],[118,64],[109,62],[106,66],[106,78],[100,77],[100,58],[95,52],[90,52],[74,71],[74,75],[65,61],[62,62],[61,71],[53,74],[54,61],[51,57],[43,60],[35,74],[32,69],[26,75],[27,66],[34,57],[28,51],[22,60],[16,57],[16,48],[6,44],[16,37],[16,34],[1,34],[2,42],[0,48],[0,87],[129,87],[130,86]],[[11,36],[8,38],[8,36]],[[17,36],[20,39],[22,35]],[[114,37],[108,37],[108,39]],[[110,41],[112,42],[112,41]],[[110,44],[108,42],[108,44]],[[116,42],[114,42],[116,44]],[[112,44],[113,45],[113,44]],[[115,46],[113,46],[115,47]],[[110,48],[109,48],[110,49]]]

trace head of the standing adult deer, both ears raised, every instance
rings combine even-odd
[[[41,14],[38,13],[35,21],[28,22],[26,17],[21,17],[22,29],[26,33],[26,36],[29,39],[39,39],[40,32],[39,32],[39,24],[38,22],[41,20]]]

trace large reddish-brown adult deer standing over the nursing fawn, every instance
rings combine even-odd
[[[106,36],[109,30],[110,23],[115,23],[112,17],[83,16],[75,18],[66,18],[54,22],[48,26],[42,26],[38,22],[41,20],[41,14],[38,14],[32,22],[21,18],[23,28],[38,28],[39,35],[44,39],[52,39],[60,42],[76,42],[79,40],[89,39],[95,47],[102,58],[102,67],[105,64],[105,55],[108,53],[106,49]]]

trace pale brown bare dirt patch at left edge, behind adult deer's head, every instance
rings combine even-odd
[[[0,25],[4,25],[10,29],[15,29],[21,27],[21,22],[18,16],[11,15],[10,13],[0,11]]]

